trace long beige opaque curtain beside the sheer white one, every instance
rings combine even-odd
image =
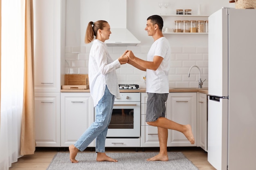
[[[24,96],[21,124],[21,155],[34,154],[34,41],[33,0],[25,1],[25,66]]]

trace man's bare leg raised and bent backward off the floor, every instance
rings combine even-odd
[[[195,138],[192,132],[191,125],[178,124],[175,121],[169,120],[165,117],[159,117],[156,121],[147,122],[151,126],[162,127],[166,129],[173,129],[182,132],[191,144],[195,144]]]

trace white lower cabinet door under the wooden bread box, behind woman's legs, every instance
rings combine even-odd
[[[74,144],[94,121],[90,93],[61,93],[61,146]],[[94,147],[94,141],[88,146]]]

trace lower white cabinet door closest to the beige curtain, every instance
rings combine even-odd
[[[34,101],[36,146],[61,146],[60,93],[35,93]]]

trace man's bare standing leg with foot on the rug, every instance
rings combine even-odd
[[[155,157],[147,159],[147,161],[168,161],[167,155],[167,138],[168,138],[168,129],[157,127],[158,129],[158,139],[160,145],[159,154]]]

